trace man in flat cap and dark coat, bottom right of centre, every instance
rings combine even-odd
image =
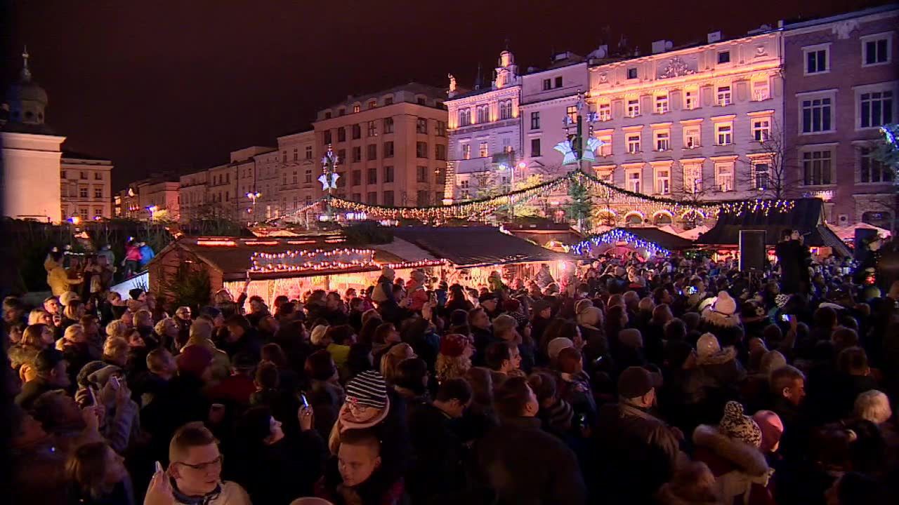
[[[649,413],[661,377],[640,367],[619,376],[619,403],[603,405],[597,423],[596,503],[654,503],[672,478],[683,434]]]

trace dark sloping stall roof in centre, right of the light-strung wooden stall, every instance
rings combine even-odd
[[[401,226],[393,233],[458,267],[571,259],[493,226]]]

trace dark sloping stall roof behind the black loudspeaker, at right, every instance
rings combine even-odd
[[[821,199],[790,199],[786,205],[776,208],[760,200],[755,208],[739,214],[722,211],[717,223],[708,232],[699,235],[697,244],[738,246],[740,230],[764,230],[765,244],[777,244],[784,229],[798,230],[806,235],[806,245],[831,247],[833,253],[849,255],[849,248],[824,224]]]

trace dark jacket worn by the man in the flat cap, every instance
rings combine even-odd
[[[654,493],[671,480],[679,442],[649,412],[625,401],[603,405],[596,435],[602,456],[595,482],[608,494],[607,502],[651,503]]]

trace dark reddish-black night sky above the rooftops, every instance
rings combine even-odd
[[[478,62],[489,77],[507,38],[523,69],[547,65],[554,50],[587,54],[603,25],[611,44],[623,33],[645,54],[652,40],[677,46],[708,31],[734,36],[884,3],[13,0],[3,77],[17,75],[27,44],[50,126],[68,150],[113,160],[120,188],[273,146],[349,93],[411,80],[445,86],[448,72],[470,85]]]

